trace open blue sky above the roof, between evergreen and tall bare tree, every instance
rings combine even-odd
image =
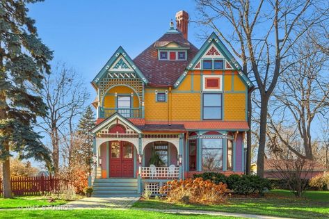
[[[192,0],[46,0],[29,9],[40,38],[54,50],[52,63],[64,61],[81,72],[91,99],[95,91],[89,82],[120,45],[134,58],[169,29],[177,11],[195,18]],[[198,27],[191,23],[188,28],[188,39],[200,47]]]

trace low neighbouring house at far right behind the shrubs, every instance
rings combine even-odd
[[[291,167],[291,168],[289,168]],[[299,167],[299,165],[298,165]],[[256,168],[257,169],[257,168]],[[315,161],[306,161],[303,168],[295,167],[294,161],[278,161],[275,159],[265,159],[264,160],[264,177],[271,179],[280,179],[283,176],[287,176],[289,171],[300,172],[300,177],[303,179],[311,179],[316,175],[323,175],[326,172],[326,167],[321,163]]]

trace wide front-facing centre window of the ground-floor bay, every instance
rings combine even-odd
[[[223,138],[202,139],[202,170],[223,169]]]

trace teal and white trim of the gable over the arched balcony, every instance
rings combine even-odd
[[[98,87],[100,79],[102,79],[109,72],[136,72],[136,74],[143,80],[144,83],[149,83],[146,77],[143,75],[141,70],[135,65],[133,60],[127,54],[125,49],[121,46],[115,51],[113,56],[107,61],[106,65],[102,67],[92,83],[94,86]],[[124,74],[122,74],[124,75]]]

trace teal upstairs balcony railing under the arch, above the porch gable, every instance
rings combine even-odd
[[[100,116],[109,117],[114,113],[120,113],[127,118],[141,118],[143,117],[142,108],[101,108]]]

